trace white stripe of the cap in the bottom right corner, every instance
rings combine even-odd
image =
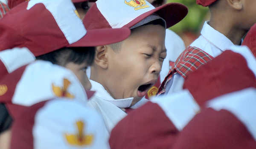
[[[208,106],[219,111],[225,109],[233,113],[256,140],[256,89],[249,88],[217,97]]]

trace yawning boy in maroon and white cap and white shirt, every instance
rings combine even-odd
[[[141,99],[156,83],[166,57],[165,29],[186,14],[179,3],[154,8],[145,0],[97,0],[87,11],[88,29],[132,30],[123,42],[96,46],[91,66],[91,90],[96,94],[89,104],[102,114],[109,132],[126,112],[147,102]]]

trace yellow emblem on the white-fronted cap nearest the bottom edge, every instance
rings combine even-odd
[[[93,143],[93,135],[84,134],[84,123],[80,120],[76,122],[78,132],[74,135],[65,134],[65,138],[73,146],[89,146]]]

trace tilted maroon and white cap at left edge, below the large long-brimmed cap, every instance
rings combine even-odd
[[[43,60],[36,60],[0,80],[0,102],[15,118],[20,110],[55,97],[87,103],[84,87],[73,72]]]

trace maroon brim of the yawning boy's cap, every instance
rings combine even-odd
[[[168,3],[144,14],[141,14],[139,17],[136,17],[124,27],[131,28],[141,20],[154,13],[162,17],[166,21],[166,28],[169,28],[180,22],[188,14],[188,8],[180,3]]]

